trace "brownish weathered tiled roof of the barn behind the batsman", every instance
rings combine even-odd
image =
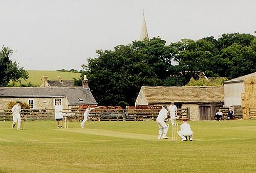
[[[224,102],[223,86],[207,87],[141,87],[147,102]]]

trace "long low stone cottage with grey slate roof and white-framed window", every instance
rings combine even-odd
[[[52,87],[50,83],[43,80],[42,87],[0,88],[1,109],[6,109],[10,101],[17,100],[27,102],[31,109],[54,109],[57,101],[61,102],[63,109],[71,109],[81,104],[97,105],[86,76],[84,76],[83,87]]]

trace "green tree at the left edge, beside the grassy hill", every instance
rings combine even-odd
[[[28,72],[18,67],[16,61],[10,60],[13,50],[3,46],[0,52],[0,87],[5,87],[10,80],[20,81],[28,79]]]

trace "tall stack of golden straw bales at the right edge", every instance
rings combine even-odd
[[[256,107],[256,76],[244,79],[244,90],[242,93],[243,119],[249,118],[250,108]]]

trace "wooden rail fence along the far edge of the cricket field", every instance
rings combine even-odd
[[[69,121],[82,121],[85,110],[63,110]],[[89,114],[90,121],[155,121],[160,109],[97,109]],[[189,119],[188,109],[178,109],[178,116]],[[54,120],[54,110],[22,110],[24,121]],[[0,110],[0,121],[12,121],[11,110]]]

